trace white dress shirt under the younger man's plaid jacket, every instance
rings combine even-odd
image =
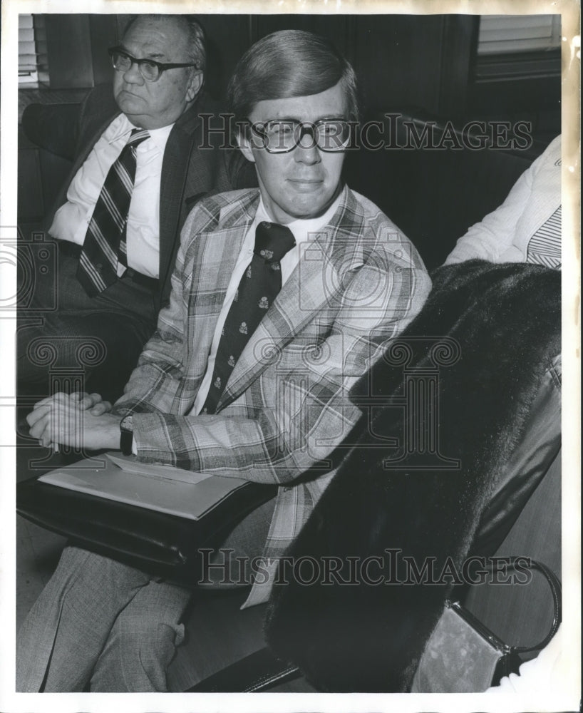
[[[315,237],[315,234],[321,230],[324,226],[328,225],[331,217],[334,215],[336,208],[339,205],[341,195],[336,198],[324,215],[320,215],[316,218],[310,218],[309,220],[293,220],[292,222],[286,223],[286,227],[294,234],[296,240],[296,245],[289,250],[289,252],[284,255],[281,267],[282,267],[282,286],[286,283],[287,279],[294,271],[299,263],[299,256],[301,254],[301,245],[311,238]],[[239,257],[237,258],[237,263],[235,264],[229,286],[227,287],[227,293],[225,294],[225,302],[222,303],[221,312],[219,314],[219,319],[217,321],[217,326],[215,327],[215,334],[212,338],[212,344],[210,347],[209,359],[207,362],[207,371],[205,371],[205,376],[200,384],[200,389],[198,390],[195,403],[192,406],[192,411],[190,415],[200,414],[202,411],[202,406],[204,406],[207,399],[207,394],[210,389],[210,382],[212,380],[212,372],[215,370],[215,358],[217,356],[217,349],[219,347],[219,342],[221,339],[222,328],[225,325],[225,320],[227,319],[227,314],[231,308],[231,304],[234,299],[234,294],[237,292],[237,287],[239,287],[239,282],[243,277],[243,273],[247,269],[247,265],[251,262],[253,257],[253,248],[255,245],[255,228],[259,225],[262,220],[267,220],[268,222],[273,222],[272,219],[267,215],[267,210],[263,200],[259,200],[259,207],[257,208],[257,213],[255,214],[254,220],[247,231],[243,240],[243,245],[241,247],[241,252],[239,252]]]

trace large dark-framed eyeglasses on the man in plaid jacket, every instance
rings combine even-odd
[[[314,123],[274,119],[249,123],[252,133],[259,139],[259,148],[269,153],[287,153],[300,143],[304,148],[317,146],[323,151],[344,151],[351,138],[351,123],[344,119],[319,119]],[[303,140],[306,135],[311,143]]]

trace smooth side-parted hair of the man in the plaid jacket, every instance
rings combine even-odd
[[[235,121],[242,121],[259,101],[319,94],[339,82],[349,119],[358,120],[358,87],[350,63],[319,35],[282,30],[254,43],[239,59],[227,87],[227,106]]]

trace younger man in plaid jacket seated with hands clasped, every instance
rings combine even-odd
[[[45,445],[279,486],[215,553],[221,573],[234,567],[227,585],[252,584],[250,606],[269,597],[277,558],[334,476],[331,454],[361,417],[351,386],[421,309],[430,279],[398,227],[341,180],[356,78],[327,41],[265,37],[228,93],[259,190],[190,213],[170,305],[113,410],[61,395],[29,423]],[[239,570],[257,558],[259,577]],[[165,690],[190,596],[66,548],[19,635],[19,690]]]

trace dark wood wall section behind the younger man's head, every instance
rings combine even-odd
[[[414,105],[459,116],[465,110],[475,16],[207,15],[201,19],[212,52],[220,57],[220,71],[208,82],[217,96],[253,42],[277,30],[304,29],[328,37],[351,61],[368,111]]]

